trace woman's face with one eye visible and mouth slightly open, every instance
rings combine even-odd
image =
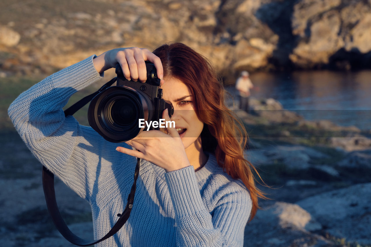
[[[198,119],[194,110],[194,97],[188,87],[180,80],[168,76],[164,78],[163,99],[173,104],[174,114],[171,121],[175,121],[184,148],[201,145],[201,131],[204,124]],[[200,137],[200,138],[199,138]]]

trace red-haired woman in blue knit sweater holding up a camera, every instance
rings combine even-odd
[[[155,64],[163,98],[174,106],[175,128],[142,131],[117,146],[64,116],[68,98],[117,63],[127,79],[145,81],[145,60]],[[128,221],[97,246],[242,246],[257,197],[264,197],[223,87],[206,59],[181,43],[89,57],[21,94],[9,116],[41,163],[91,204],[95,238],[125,207],[135,157],[142,159]],[[170,120],[165,111],[162,118]]]

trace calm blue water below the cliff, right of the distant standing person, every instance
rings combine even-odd
[[[340,126],[371,128],[371,70],[254,73],[252,96],[273,98],[307,120],[331,120]]]

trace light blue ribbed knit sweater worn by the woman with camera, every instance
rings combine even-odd
[[[89,57],[22,93],[8,112],[37,159],[90,203],[95,238],[124,210],[136,164],[117,144],[63,114],[73,93],[99,79]],[[165,173],[142,160],[127,223],[96,246],[243,246],[251,208],[242,181],[224,173],[213,154],[197,172],[188,166]]]

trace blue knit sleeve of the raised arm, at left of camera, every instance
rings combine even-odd
[[[86,200],[96,167],[103,163],[96,153],[107,147],[102,147],[103,138],[90,127],[80,126],[72,116],[65,117],[62,108],[73,93],[101,78],[91,56],[32,86],[8,110],[36,158]]]

